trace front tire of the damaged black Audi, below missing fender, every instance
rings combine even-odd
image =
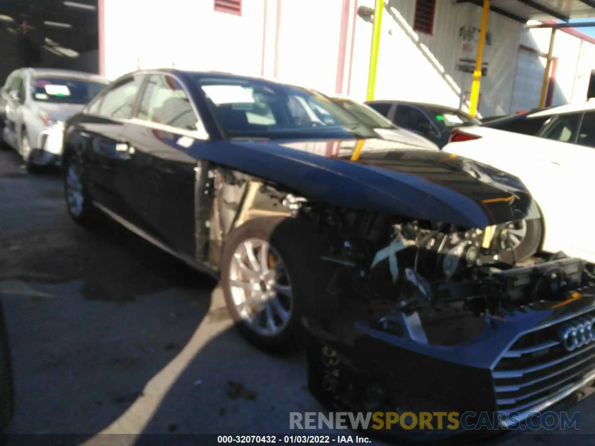
[[[261,260],[260,265],[262,266],[262,257],[259,256],[262,255],[263,250],[258,245],[258,240],[268,243],[269,256],[266,266],[269,271],[273,271],[274,268],[278,269],[276,285],[271,285],[268,288],[268,292],[274,294],[274,297],[268,301],[271,306],[270,315],[273,316],[275,324],[278,323],[278,331],[274,333],[270,330],[270,325],[265,322],[267,300],[256,301],[256,309],[252,313],[255,323],[248,322],[247,316],[250,311],[246,310],[242,314],[245,311],[241,305],[242,299],[246,299],[248,295],[264,296],[265,291],[263,290],[267,288],[262,286],[264,282],[258,278],[258,274],[263,274],[263,268],[260,273],[252,272],[250,274],[253,276],[249,276],[245,274],[245,268],[240,266],[240,263],[243,263],[244,266],[249,266],[251,263],[247,246],[251,247],[256,259]],[[305,309],[315,299],[317,289],[320,289],[318,277],[324,269],[321,268],[319,260],[321,246],[320,237],[311,230],[306,222],[296,218],[256,218],[230,233],[225,241],[221,259],[221,288],[227,308],[236,322],[237,328],[254,346],[270,353],[284,353],[303,345],[305,331],[301,318]],[[245,257],[243,257],[243,252],[246,254]],[[238,257],[241,261],[237,260]],[[240,278],[240,276],[243,277]],[[260,280],[261,290],[252,288],[245,291],[250,277],[254,282]],[[243,287],[237,286],[238,283],[243,284]],[[288,284],[291,290],[290,296],[287,296],[286,289],[280,291]],[[278,292],[275,293],[275,290]],[[267,299],[267,297],[262,297],[262,299]],[[275,299],[277,299],[277,304],[274,304]],[[283,312],[277,310],[279,304],[283,306],[283,310],[289,313],[286,322],[283,322],[281,317]],[[263,328],[264,325],[266,326]],[[268,330],[268,333],[264,333],[263,330]]]

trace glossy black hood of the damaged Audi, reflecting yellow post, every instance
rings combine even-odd
[[[195,147],[197,158],[336,206],[469,228],[539,215],[518,178],[439,150],[381,139],[236,140]]]

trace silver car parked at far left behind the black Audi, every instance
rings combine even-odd
[[[1,143],[17,150],[27,170],[58,164],[64,121],[108,84],[82,71],[20,68],[0,90]]]

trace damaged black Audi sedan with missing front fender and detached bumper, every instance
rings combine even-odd
[[[65,199],[220,278],[257,346],[305,325],[329,406],[522,419],[590,384],[590,265],[517,258],[518,178],[394,139],[313,90],[137,71],[65,124]]]

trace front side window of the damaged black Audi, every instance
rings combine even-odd
[[[185,130],[202,128],[181,85],[165,74],[149,76],[136,117]]]

